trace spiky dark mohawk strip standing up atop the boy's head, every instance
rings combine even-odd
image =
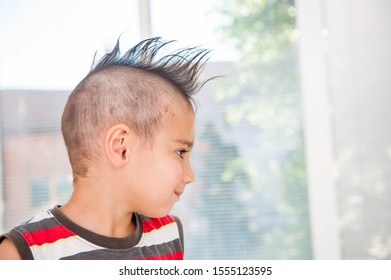
[[[161,37],[143,40],[121,56],[119,39],[113,50],[99,61],[94,57],[91,74],[112,66],[125,66],[144,70],[158,75],[175,85],[190,101],[209,80],[199,81],[211,50],[199,47],[181,48],[175,52],[158,57],[164,49],[175,43]]]

